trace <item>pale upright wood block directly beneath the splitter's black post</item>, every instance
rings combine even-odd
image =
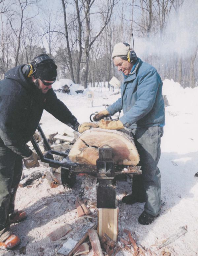
[[[98,235],[100,238],[107,234],[113,241],[117,241],[118,235],[118,208],[98,209]]]

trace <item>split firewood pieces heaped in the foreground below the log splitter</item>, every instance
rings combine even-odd
[[[56,251],[56,255],[115,256],[120,250],[130,251],[131,255],[135,256],[145,255],[145,250],[136,244],[135,239],[128,230],[123,231],[123,236],[118,241],[114,241],[106,233],[99,236],[96,230],[98,225],[97,219],[89,211],[89,208],[96,207],[96,205],[93,203],[91,206],[91,202],[93,201],[80,199],[79,197],[76,198],[77,219],[83,219],[85,224],[83,222],[84,225],[74,234],[70,235],[72,228],[69,224],[64,224],[48,234],[52,242],[58,239],[60,241],[67,239],[62,247]]]

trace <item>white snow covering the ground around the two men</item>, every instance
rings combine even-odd
[[[64,83],[56,86],[61,87]],[[74,86],[74,85],[73,85]],[[81,90],[81,89],[78,89]],[[165,80],[163,94],[167,95],[170,106],[165,108],[166,126],[161,140],[161,198],[162,211],[155,221],[143,226],[138,223],[138,217],[144,210],[144,203],[126,205],[121,198],[130,193],[131,184],[119,181],[117,195],[119,206],[119,235],[127,228],[133,234],[138,245],[150,249],[151,254],[145,255],[177,255],[195,256],[198,254],[198,88],[183,89],[174,81]],[[93,107],[87,103],[87,92],[82,94],[57,93],[71,112],[78,118],[79,123],[89,121],[89,115],[103,110],[103,104],[112,104],[119,97],[113,92],[103,90],[94,91]],[[44,112],[42,119],[44,131],[63,131],[65,125],[60,123],[49,113]],[[39,168],[45,168],[40,165]],[[55,255],[65,240],[51,242],[47,234],[53,228],[63,223],[69,223],[73,231],[78,230],[83,220],[77,217],[75,198],[80,193],[83,178],[78,178],[72,190],[59,186],[50,189],[46,179],[41,184],[19,188],[16,195],[16,208],[24,208],[28,218],[24,222],[13,225],[13,231],[21,238],[21,244],[14,251],[3,252],[0,255],[18,255],[19,248],[26,247],[26,255]],[[86,178],[89,180],[89,178]],[[89,181],[87,181],[89,182]],[[92,184],[92,181],[90,182]],[[94,184],[94,183],[93,183]],[[96,216],[96,212],[93,210]],[[175,235],[181,226],[187,228],[187,233],[177,240],[156,250],[154,245]],[[156,251],[155,251],[156,250]],[[117,256],[132,255],[131,252],[121,250]]]

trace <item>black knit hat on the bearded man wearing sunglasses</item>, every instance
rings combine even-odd
[[[36,56],[32,62],[34,62],[35,59],[38,57],[44,56],[44,54]],[[36,63],[36,70],[34,73],[35,78],[41,78],[43,80],[47,81],[54,81],[56,80],[57,76],[57,66],[54,63],[53,59],[47,59],[40,63]]]

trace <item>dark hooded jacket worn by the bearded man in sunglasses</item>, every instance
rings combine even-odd
[[[71,128],[77,129],[79,123],[53,89],[43,94],[24,77],[22,67],[10,69],[0,81],[0,145],[28,157],[32,151],[26,143],[36,131],[44,109]]]

